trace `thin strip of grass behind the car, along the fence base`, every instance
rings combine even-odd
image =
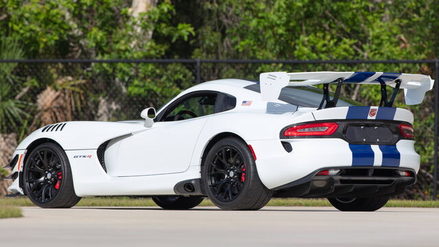
[[[0,198],[0,208],[3,207],[29,207],[34,206],[28,198]],[[150,198],[128,198],[128,197],[95,197],[82,198],[76,207],[152,207],[156,204]],[[204,200],[200,206],[213,206],[210,200]],[[302,199],[302,198],[274,198],[267,206],[285,207],[331,207],[326,199]],[[420,200],[390,200],[385,207],[427,207],[439,208],[439,201]]]

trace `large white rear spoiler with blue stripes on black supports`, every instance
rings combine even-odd
[[[311,86],[324,84],[324,98],[319,108],[329,108],[337,104],[343,84],[379,84],[381,85],[381,106],[392,106],[396,93],[404,89],[405,104],[415,105],[423,102],[425,93],[433,89],[434,80],[429,75],[383,72],[268,72],[259,75],[261,97],[264,101],[278,99],[285,86]],[[333,99],[329,97],[329,84],[337,84]],[[387,99],[386,87],[392,86],[394,93]]]

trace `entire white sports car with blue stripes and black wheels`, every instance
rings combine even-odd
[[[347,83],[380,85],[381,105],[340,97]],[[392,107],[396,93],[404,89],[406,104],[420,104],[433,84],[427,75],[382,72],[205,82],[157,114],[146,108],[142,121],[36,130],[12,156],[9,189],[44,208],[73,207],[86,196],[152,196],[164,209],[190,209],[207,196],[228,210],[300,197],[375,211],[416,182],[420,165],[413,115]]]

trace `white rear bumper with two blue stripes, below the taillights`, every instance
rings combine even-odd
[[[281,141],[291,145],[290,152]],[[369,145],[366,150],[353,150],[348,142],[337,138],[247,143],[252,145],[259,178],[268,189],[301,180],[324,167],[394,167],[418,172],[420,165],[420,156],[416,154],[412,140],[400,140],[393,148]]]

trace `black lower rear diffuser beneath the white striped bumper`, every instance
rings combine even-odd
[[[335,167],[331,167],[334,169]],[[305,178],[275,188],[274,197],[290,198],[365,198],[394,196],[416,183],[414,169],[394,167],[337,167],[349,175],[320,176],[323,168]],[[352,172],[355,169],[355,174]],[[396,171],[410,171],[412,176],[399,176]],[[370,175],[367,175],[370,174]],[[381,176],[380,176],[381,174]]]

